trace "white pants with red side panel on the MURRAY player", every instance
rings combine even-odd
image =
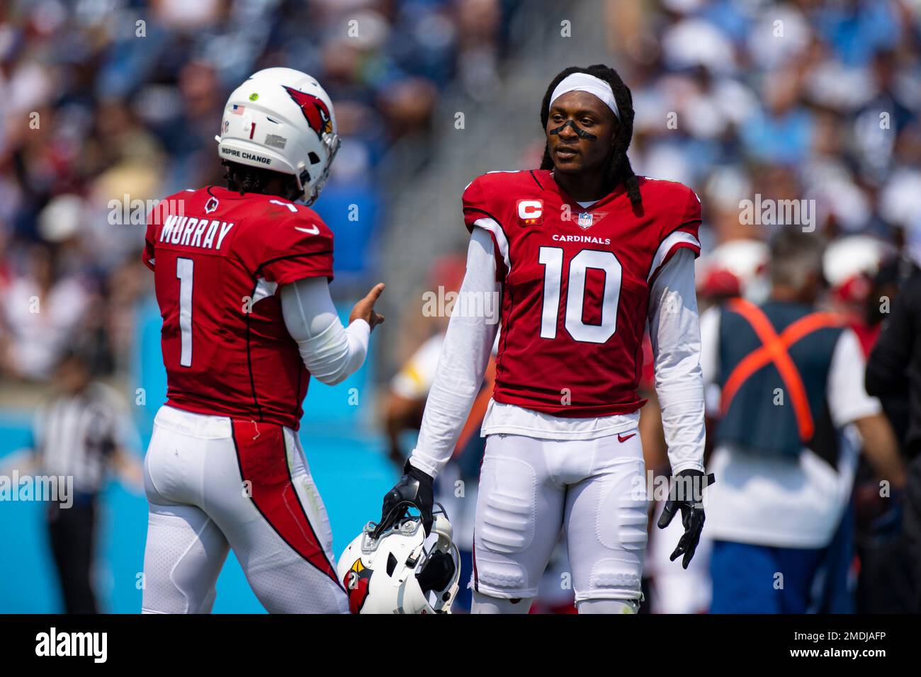
[[[292,430],[160,407],[144,481],[143,613],[209,613],[229,548],[269,613],[348,613]]]

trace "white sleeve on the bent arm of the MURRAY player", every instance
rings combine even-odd
[[[281,290],[285,326],[310,375],[327,385],[351,376],[365,362],[371,328],[364,320],[343,327],[325,277],[307,277]]]

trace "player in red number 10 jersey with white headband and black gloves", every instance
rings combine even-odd
[[[457,309],[501,296],[495,390],[473,543],[474,613],[527,613],[565,529],[579,613],[633,613],[642,599],[647,480],[637,385],[649,324],[673,492],[671,555],[686,567],[704,523],[704,391],[694,297],[700,201],[636,177],[630,90],[603,65],[566,68],[541,106],[541,169],[490,172],[463,193],[467,273],[404,475],[383,524],[431,484],[483,379],[496,326]],[[461,303],[464,297],[466,303]],[[692,490],[694,489],[694,490]]]

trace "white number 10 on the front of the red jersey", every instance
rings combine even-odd
[[[544,267],[541,338],[554,339],[560,309],[560,289],[563,286],[563,248],[542,247],[537,260]],[[586,324],[582,321],[586,271],[589,268],[604,272],[600,324]],[[576,341],[603,344],[617,331],[617,305],[621,298],[623,270],[612,251],[582,250],[569,262],[565,328]]]

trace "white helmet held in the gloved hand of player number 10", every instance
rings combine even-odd
[[[418,517],[398,520],[377,539],[376,528],[368,522],[336,567],[352,613],[450,613],[461,554],[444,508],[434,512],[428,537]]]

